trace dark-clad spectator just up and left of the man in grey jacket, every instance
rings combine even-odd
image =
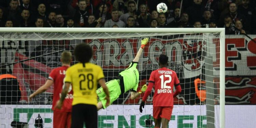
[[[104,9],[103,9],[103,6],[104,6]],[[102,10],[103,10],[103,13],[102,13]],[[99,9],[96,12],[95,18],[96,19],[102,18],[102,24],[104,24],[106,20],[111,19],[111,14],[108,12],[108,10],[109,10],[109,6],[107,4],[100,4]]]

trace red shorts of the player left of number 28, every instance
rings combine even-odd
[[[53,111],[53,128],[71,128],[71,112]]]

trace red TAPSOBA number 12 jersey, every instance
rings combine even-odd
[[[165,67],[154,70],[149,82],[155,85],[153,106],[173,106],[173,85],[180,84],[176,72]]]

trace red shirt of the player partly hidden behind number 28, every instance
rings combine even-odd
[[[54,92],[53,92],[53,106],[56,105],[56,102],[60,99],[61,97],[61,91],[64,86],[63,79],[65,78],[66,75],[66,70],[68,69],[68,66],[61,66],[59,68],[53,69],[49,75],[50,80],[54,81]],[[61,112],[71,112],[72,109],[72,101],[73,101],[73,90],[72,87],[70,86],[67,97],[63,101],[62,108],[61,110],[55,109],[55,111],[61,111]]]

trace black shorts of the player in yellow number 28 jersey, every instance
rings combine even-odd
[[[72,106],[71,128],[98,128],[98,111],[95,105],[76,104]]]

